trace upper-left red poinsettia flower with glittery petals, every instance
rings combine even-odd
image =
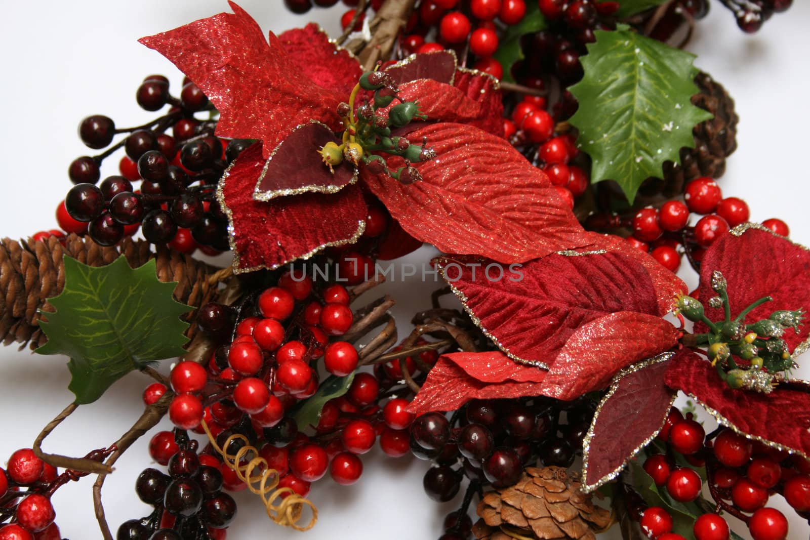
[[[230,6],[232,14],[141,42],[209,96],[220,112],[218,135],[261,141],[232,164],[218,189],[235,270],[276,268],[356,240],[367,212],[364,188],[401,227],[394,234],[404,247],[387,257],[429,242],[510,263],[590,245],[548,177],[502,138],[495,79],[458,68],[450,52],[387,67],[398,100],[416,102],[427,120],[407,125],[407,138],[426,141],[436,159],[412,164],[421,180],[411,184],[363,161],[330,167],[322,148],[343,140],[339,107],[350,101],[360,64],[315,25],[268,40],[245,11]],[[390,170],[404,164],[390,160]]]

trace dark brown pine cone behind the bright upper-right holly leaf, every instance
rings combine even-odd
[[[723,85],[707,73],[697,74],[695,84],[700,93],[692,96],[692,103],[714,114],[714,118],[694,127],[695,147],[680,149],[680,164],[664,162],[663,179],[648,178],[639,189],[642,195],[662,193],[672,198],[683,193],[684,186],[695,178],[719,178],[726,172],[726,158],[737,149],[740,118],[734,112],[734,100]]]

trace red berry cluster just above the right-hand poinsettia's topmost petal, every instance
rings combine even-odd
[[[702,215],[693,227],[688,227],[689,215]],[[650,254],[667,269],[680,268],[680,247],[684,240],[695,261],[700,261],[706,248],[731,228],[745,223],[750,217],[748,204],[736,197],[723,198],[717,182],[703,176],[689,182],[684,202],[671,200],[656,208],[647,206],[633,216],[633,236],[628,241]],[[762,225],[778,235],[788,236],[790,230],[781,219],[765,219]],[[684,235],[688,229],[689,234]]]

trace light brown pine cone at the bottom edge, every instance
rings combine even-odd
[[[472,532],[478,540],[595,540],[595,531],[607,527],[611,515],[581,486],[562,467],[527,467],[514,486],[484,495]]]

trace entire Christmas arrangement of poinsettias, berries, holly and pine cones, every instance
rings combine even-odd
[[[61,539],[51,496],[88,475],[104,540],[303,532],[377,444],[430,463],[441,540],[799,538],[810,258],[718,184],[734,101],[683,50],[707,2],[361,0],[341,36],[228,2],[143,37],[182,87],[139,83],[144,125],[86,117],[61,230],[0,244],[2,338],[68,357],[75,394],[0,469],[0,540]],[[791,4],[715,3],[745,32]],[[377,263],[424,244],[437,286],[402,337],[411,292],[378,293]],[[118,440],[45,453],[130,372]],[[146,508],[110,524],[104,480],[147,434]]]

